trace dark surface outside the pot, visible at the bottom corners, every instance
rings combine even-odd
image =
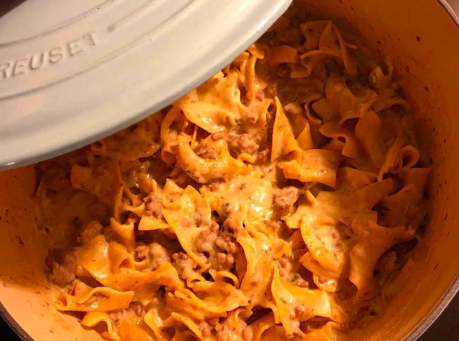
[[[0,340],[20,341],[2,319],[0,319]],[[456,295],[440,318],[419,338],[419,341],[459,341],[459,295]]]

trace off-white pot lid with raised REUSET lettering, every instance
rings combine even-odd
[[[0,169],[134,124],[229,64],[292,0],[27,0],[0,18]]]

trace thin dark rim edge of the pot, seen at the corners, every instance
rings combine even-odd
[[[447,3],[447,0],[437,0],[443,9],[449,14],[450,19],[454,22],[457,29],[459,29],[459,17],[454,12],[452,7]],[[405,341],[416,341],[442,314],[456,293],[459,291],[459,274],[452,281],[451,286],[443,294],[442,298],[437,304],[429,311],[429,313],[422,319],[422,321],[405,337]],[[23,340],[34,341],[34,339],[16,322],[10,315],[8,310],[0,301],[0,316],[10,326],[10,328]]]

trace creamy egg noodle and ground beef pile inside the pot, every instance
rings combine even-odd
[[[389,61],[289,9],[168,108],[40,165],[77,231],[47,258],[56,307],[113,340],[334,339],[418,238],[412,125]]]

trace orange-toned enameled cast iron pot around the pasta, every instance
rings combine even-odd
[[[300,0],[395,61],[433,171],[428,225],[412,261],[391,286],[388,307],[352,340],[415,340],[459,288],[459,20],[444,0]],[[27,148],[27,146],[24,146]],[[0,172],[0,302],[23,338],[100,340],[52,306],[45,279],[47,247],[65,235],[42,233],[32,195],[33,166]],[[50,236],[52,235],[52,236]]]

